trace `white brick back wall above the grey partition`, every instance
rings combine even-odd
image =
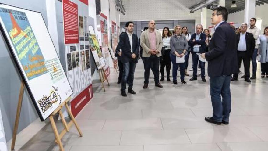
[[[147,20],[196,20],[200,24],[200,13],[190,13],[188,7],[192,1],[178,0],[124,0],[126,15],[121,15],[121,22]]]

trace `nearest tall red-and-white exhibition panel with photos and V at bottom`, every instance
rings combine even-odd
[[[62,0],[66,74],[74,94],[74,117],[93,97],[88,29],[88,1]]]

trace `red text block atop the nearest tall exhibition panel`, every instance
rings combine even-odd
[[[79,43],[77,4],[62,0],[65,44]]]

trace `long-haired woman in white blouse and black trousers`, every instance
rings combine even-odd
[[[170,60],[170,38],[171,33],[169,31],[168,27],[164,27],[163,33],[162,33],[162,39],[163,39],[163,47],[162,47],[162,57],[160,59],[160,73],[161,73],[161,79],[160,81],[164,81],[164,69],[166,66],[167,70],[167,80],[170,81],[169,73],[171,68],[171,60]]]

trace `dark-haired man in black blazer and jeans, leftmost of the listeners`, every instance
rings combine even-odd
[[[120,34],[120,41],[118,44],[119,50],[121,49],[122,51],[118,52],[118,55],[121,56],[121,62],[123,63],[123,77],[121,80],[122,96],[127,96],[125,92],[127,81],[129,84],[128,92],[131,94],[136,94],[132,87],[139,54],[139,39],[136,34],[133,34],[134,23],[127,22],[125,27],[126,32]]]

